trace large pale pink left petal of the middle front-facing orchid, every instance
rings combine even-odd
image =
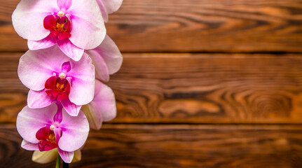
[[[55,71],[61,71],[62,62],[69,58],[57,47],[43,50],[28,50],[20,58],[18,76],[31,90],[43,90],[45,82]]]

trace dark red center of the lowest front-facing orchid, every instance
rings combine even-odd
[[[53,148],[57,148],[55,132],[50,130],[47,126],[42,127],[38,132],[36,132],[36,139],[39,140],[39,151],[50,151]]]

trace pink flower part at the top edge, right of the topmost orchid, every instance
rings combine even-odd
[[[97,0],[105,22],[108,22],[108,14],[116,12],[121,7],[123,0]]]

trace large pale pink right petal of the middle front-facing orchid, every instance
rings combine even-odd
[[[80,61],[71,61],[71,70],[67,78],[71,83],[69,93],[70,102],[76,105],[88,104],[92,101],[95,92],[95,66],[90,57],[84,53]]]

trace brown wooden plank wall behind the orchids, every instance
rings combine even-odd
[[[0,0],[0,167],[31,161],[15,129],[27,50]],[[109,36],[118,116],[70,167],[302,167],[301,0],[124,0]]]

